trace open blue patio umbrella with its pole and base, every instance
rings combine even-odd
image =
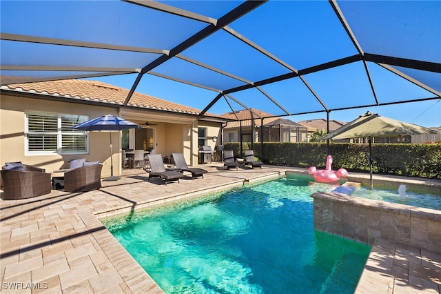
[[[119,177],[113,176],[113,160],[112,160],[112,130],[128,130],[130,128],[141,128],[138,124],[121,117],[114,115],[103,115],[102,117],[96,117],[90,121],[85,121],[76,126],[72,126],[75,130],[108,130],[110,135],[110,177],[107,177],[107,181],[116,181]]]

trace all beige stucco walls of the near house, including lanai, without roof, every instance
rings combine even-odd
[[[58,170],[65,161],[85,158],[88,161],[100,161],[103,164],[102,177],[111,174],[110,134],[109,132],[89,133],[89,153],[78,155],[25,155],[25,112],[51,112],[71,115],[88,115],[89,119],[102,115],[116,115],[142,125],[146,120],[163,119],[152,127],[156,131],[156,153],[170,156],[174,152],[182,152],[189,165],[198,164],[198,124],[207,128],[207,144],[215,148],[212,137],[220,138],[220,123],[198,121],[196,117],[178,116],[173,113],[146,112],[120,108],[92,106],[64,101],[19,97],[16,95],[0,96],[0,164],[9,161],[21,161],[45,168],[47,173]],[[175,121],[175,122],[174,122]],[[121,175],[121,133],[112,132],[113,174]],[[1,182],[3,186],[3,182]]]

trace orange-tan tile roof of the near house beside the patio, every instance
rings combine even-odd
[[[118,86],[105,84],[101,81],[90,81],[81,79],[65,79],[59,81],[39,81],[23,84],[9,84],[1,86],[2,90],[16,90],[20,92],[32,92],[43,95],[51,95],[85,101],[99,101],[110,104],[123,105],[129,90]],[[140,108],[165,110],[170,112],[181,112],[191,115],[198,115],[201,110],[176,104],[164,99],[134,92],[130,99],[129,106]],[[207,114],[209,116],[216,116]]]

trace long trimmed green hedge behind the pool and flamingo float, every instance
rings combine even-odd
[[[239,143],[227,143],[225,149],[240,154]],[[251,144],[243,143],[243,150]],[[265,164],[277,166],[326,166],[326,143],[265,143],[263,156],[260,143],[253,144],[254,154]],[[333,169],[369,171],[369,145],[351,143],[329,144]],[[405,175],[441,179],[441,144],[373,144],[373,172],[388,175]]]

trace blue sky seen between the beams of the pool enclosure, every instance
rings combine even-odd
[[[218,19],[241,1],[161,1],[207,17]],[[441,1],[337,1],[347,23],[364,53],[441,63]],[[0,40],[1,65],[17,70],[0,70],[1,75],[36,78],[94,75],[103,69],[133,71],[161,57],[160,50],[172,50],[179,43],[207,27],[203,21],[183,18],[159,10],[141,8],[125,1],[6,1],[0,2],[2,33],[81,41],[125,48],[150,48],[158,52],[106,50],[91,46],[60,46]],[[63,11],[63,13],[59,13]],[[51,17],[41,17],[41,15]],[[329,1],[271,0],[229,23],[229,28],[282,60],[280,64],[259,50],[240,41],[228,30],[218,30],[193,46],[153,68],[158,75],[186,80],[217,90],[228,90],[247,83],[278,77],[358,55],[346,30]],[[231,32],[231,31],[230,31]],[[209,67],[228,72],[221,75],[185,59],[194,59]],[[286,66],[288,65],[288,66]],[[56,70],[25,70],[23,66],[56,67]],[[89,72],[75,71],[90,68]],[[413,101],[436,97],[393,74],[390,68],[367,61],[373,87],[380,103]],[[94,72],[96,69],[97,72]],[[395,68],[411,79],[423,81],[438,94],[441,74],[410,68]],[[308,72],[308,70],[306,70]],[[289,113],[322,110],[308,86],[328,108],[347,108],[376,104],[361,61],[302,76],[265,84],[261,89]],[[130,89],[136,74],[94,77],[94,80]],[[202,110],[217,92],[177,83],[153,75],[144,75],[137,92]],[[232,97],[246,106],[284,115],[285,112],[256,88],[234,92]],[[229,101],[234,110],[243,109]],[[367,111],[376,112],[421,126],[441,126],[441,102],[420,101],[391,106],[336,110],[330,119],[352,121]],[[220,115],[231,111],[220,99],[209,112]],[[326,118],[325,112],[290,117],[294,121]]]

